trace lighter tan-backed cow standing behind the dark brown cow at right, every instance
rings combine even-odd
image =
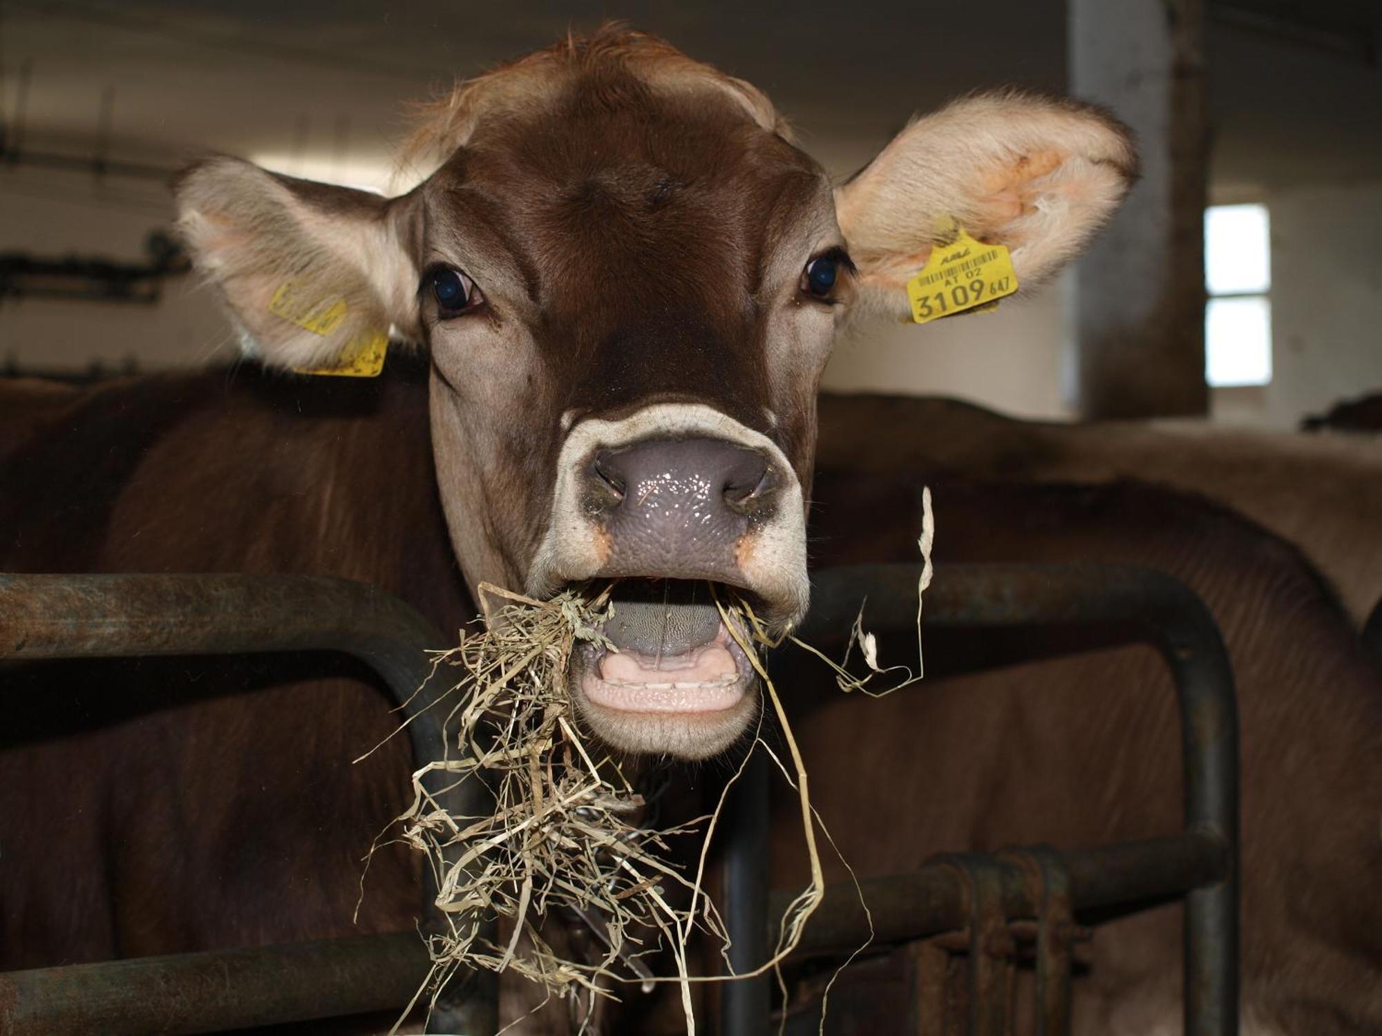
[[[1298,544],[1359,626],[1382,597],[1382,443],[1370,437],[1187,420],[1024,421],[956,399],[898,395],[824,394],[818,413],[822,467],[1155,482],[1206,496]]]

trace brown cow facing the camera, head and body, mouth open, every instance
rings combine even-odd
[[[397,198],[228,156],[176,191],[263,365],[340,369],[388,340],[423,369],[30,396],[0,468],[0,570],[325,572],[448,630],[485,609],[482,582],[619,577],[619,678],[612,655],[574,659],[579,720],[684,760],[734,745],[759,702],[695,587],[752,595],[774,630],[807,606],[840,322],[905,315],[956,225],[1036,285],[1136,174],[1107,113],[1006,91],[914,120],[832,189],[760,91],[621,28],[463,84],[410,153],[438,166]],[[198,662],[26,678],[3,745],[0,967],[357,930],[358,861],[406,787],[397,743],[348,769],[392,724],[368,685]],[[419,870],[376,859],[358,930],[410,927]]]

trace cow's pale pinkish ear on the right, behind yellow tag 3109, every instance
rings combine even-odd
[[[905,285],[958,222],[1012,250],[1021,287],[1050,276],[1137,175],[1130,134],[1075,101],[1001,93],[916,119],[835,192],[865,297],[909,314]]]

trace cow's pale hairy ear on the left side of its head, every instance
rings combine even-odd
[[[253,351],[333,366],[392,327],[417,334],[413,196],[386,199],[213,157],[174,185],[178,228]]]

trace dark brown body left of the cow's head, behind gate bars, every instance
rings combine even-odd
[[[420,372],[213,370],[53,402],[0,460],[0,570],[337,575],[449,637],[473,615]],[[351,765],[397,727],[370,684],[329,659],[7,671],[0,967],[408,928],[420,867],[399,848],[351,924],[361,859],[408,793],[405,739]]]

